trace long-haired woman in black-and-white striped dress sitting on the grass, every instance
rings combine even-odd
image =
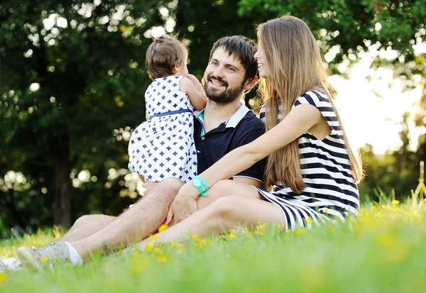
[[[258,44],[267,132],[185,184],[170,206],[169,221],[172,215],[185,218],[188,206],[212,185],[226,197],[159,233],[157,241],[258,221],[310,228],[358,214],[361,160],[346,140],[310,29],[294,16],[276,18],[258,26]],[[273,191],[224,180],[266,156],[265,183]]]

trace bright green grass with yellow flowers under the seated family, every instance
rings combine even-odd
[[[263,231],[262,231],[263,230]],[[0,292],[425,292],[424,206],[364,206],[353,223],[285,233],[259,226],[151,251],[6,272]],[[1,257],[58,231],[0,242]],[[158,248],[155,250],[155,248]],[[181,251],[180,251],[181,250]]]

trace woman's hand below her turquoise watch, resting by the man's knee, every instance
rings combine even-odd
[[[199,195],[200,192],[192,185],[192,182],[183,185],[170,205],[165,224],[168,225],[172,220],[173,223],[179,223],[194,214],[198,210],[195,200]]]

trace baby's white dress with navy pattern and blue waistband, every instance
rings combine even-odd
[[[155,79],[145,92],[150,119],[131,133],[129,170],[151,182],[175,177],[188,182],[197,176],[194,116],[181,76]]]

